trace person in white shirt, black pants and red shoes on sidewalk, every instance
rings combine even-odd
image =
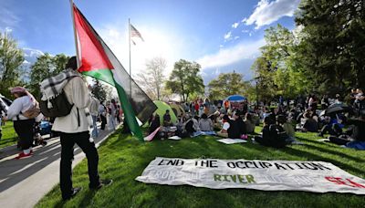
[[[22,152],[16,156],[16,160],[18,160],[30,157],[33,153],[33,126],[36,120],[26,118],[22,112],[33,108],[36,99],[26,90],[26,88],[15,87],[12,88],[10,92],[16,99],[10,105],[9,109],[7,109],[7,117],[5,120],[13,120],[14,130],[16,130],[16,134],[19,137]]]

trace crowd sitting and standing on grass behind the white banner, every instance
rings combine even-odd
[[[150,120],[153,132],[162,126],[155,137],[166,139],[169,136],[193,137],[201,132],[209,132],[224,138],[247,139],[248,134],[255,134],[255,126],[263,122],[261,135],[254,135],[254,141],[265,146],[284,147],[287,144],[300,144],[296,140],[296,131],[317,132],[318,136],[328,135],[328,140],[347,147],[364,149],[365,141],[365,97],[361,89],[353,89],[349,95],[349,104],[337,94],[333,99],[328,95],[318,99],[311,95],[284,101],[282,97],[276,104],[261,103],[250,108],[245,101],[241,109],[232,109],[229,102],[210,102],[209,99],[197,99],[191,103],[182,103],[184,115],[172,123],[170,111]],[[273,104],[275,107],[270,108]],[[336,109],[330,112],[330,109]],[[329,110],[329,111],[328,111]],[[323,111],[323,112],[322,112]],[[172,129],[165,133],[166,127]],[[215,130],[215,131],[214,131]]]

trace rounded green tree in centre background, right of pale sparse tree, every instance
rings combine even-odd
[[[194,92],[203,94],[204,84],[202,76],[199,75],[200,68],[201,66],[196,62],[180,59],[172,69],[166,88],[171,89],[172,93],[181,95],[185,102]]]

